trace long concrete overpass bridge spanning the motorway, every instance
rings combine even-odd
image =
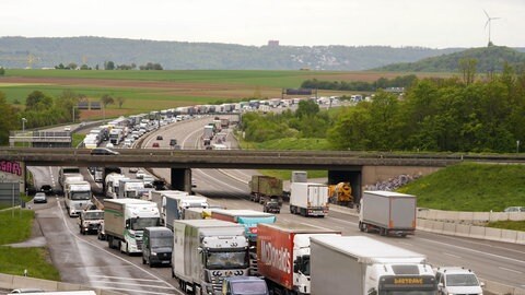
[[[329,184],[350,181],[357,196],[364,185],[377,180],[400,174],[425,175],[464,161],[525,163],[525,155],[458,153],[120,149],[119,155],[92,155],[90,151],[1,148],[0,161],[22,162],[25,166],[171,168],[172,187],[188,191],[191,188],[191,168],[328,170]]]

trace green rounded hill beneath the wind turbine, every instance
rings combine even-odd
[[[465,58],[478,61],[478,73],[501,72],[505,62],[514,67],[525,63],[525,52],[522,52],[522,48],[490,46],[429,57],[417,62],[389,64],[377,70],[389,72],[457,72],[459,60]]]

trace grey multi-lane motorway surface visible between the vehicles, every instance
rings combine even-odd
[[[150,134],[143,146],[160,143],[160,149],[168,148],[170,139],[176,138],[183,149],[200,148],[202,126],[210,118],[201,118],[164,127]],[[156,141],[156,135],[163,135]],[[229,134],[230,144],[235,144]],[[35,180],[58,186],[57,168],[30,167]],[[155,169],[156,175],[170,179],[168,169]],[[197,182],[195,191],[210,199],[212,204],[229,209],[260,210],[261,205],[248,201],[247,181],[255,170],[192,169]],[[85,177],[90,177],[85,172]],[[90,178],[88,178],[90,179]],[[159,201],[159,200],[154,200]],[[60,271],[62,281],[106,287],[126,294],[182,294],[178,283],[171,278],[168,268],[149,268],[142,266],[140,257],[128,257],[109,249],[107,244],[96,236],[79,234],[75,219],[70,219],[63,210],[63,199],[52,198],[47,204],[34,204],[37,221],[46,237],[51,259]],[[353,211],[332,209],[325,219],[306,219],[291,215],[283,204],[279,221],[310,224],[340,231],[343,235],[362,235],[358,229]],[[486,241],[469,238],[450,237],[432,233],[418,232],[407,238],[381,237],[368,234],[372,238],[397,245],[428,256],[431,264],[464,266],[475,270],[482,279],[502,284],[525,287],[525,246]],[[329,271],[329,270],[327,270]]]

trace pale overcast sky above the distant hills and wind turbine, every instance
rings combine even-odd
[[[525,0],[0,0],[0,36],[525,47]]]

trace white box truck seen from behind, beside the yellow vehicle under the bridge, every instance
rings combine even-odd
[[[328,214],[328,186],[313,182],[291,184],[290,213],[324,217]]]

